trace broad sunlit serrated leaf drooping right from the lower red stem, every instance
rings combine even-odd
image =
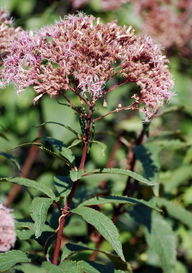
[[[117,228],[106,215],[90,207],[77,207],[71,212],[81,215],[86,222],[92,224],[125,261]]]

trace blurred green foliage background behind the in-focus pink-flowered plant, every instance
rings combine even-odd
[[[133,16],[132,7],[129,4],[120,7],[116,11],[102,12],[99,10],[99,4],[97,5],[96,2],[90,1],[88,5],[83,7],[83,11],[87,14],[101,17],[103,22],[118,19],[120,25],[133,25],[137,29],[138,21]],[[63,18],[69,12],[74,12],[71,10],[69,1],[9,0],[5,3],[5,1],[1,0],[0,6],[5,7],[11,13],[11,16],[15,18],[15,27],[21,25],[23,29],[35,29],[40,28],[42,25],[53,24],[54,20],[59,19],[59,16]],[[155,197],[155,201],[159,202],[159,206],[164,209],[164,218],[174,231],[177,244],[176,273],[187,273],[192,272],[192,226],[186,222],[185,217],[182,220],[182,215],[186,214],[185,209],[191,211],[192,208],[192,186],[190,183],[192,178],[192,67],[191,59],[177,50],[171,52],[169,59],[171,61],[170,70],[175,79],[174,89],[177,96],[173,97],[173,102],[170,105],[165,103],[164,108],[158,111],[158,116],[149,124],[149,137],[145,139],[142,147],[135,147],[134,152],[138,159],[135,172],[149,180],[161,182],[160,197],[162,198],[158,199]],[[115,81],[118,81],[118,79],[114,79],[114,84],[116,83]],[[116,109],[119,103],[123,105],[125,100],[130,101],[132,94],[136,92],[139,93],[137,87],[132,83],[120,86],[106,96],[106,101],[109,105],[107,109],[102,107],[102,100],[100,104],[98,103],[99,109],[97,113],[105,114],[110,110]],[[45,124],[42,128],[32,127],[39,126],[47,121],[63,123],[81,133],[78,118],[76,115],[71,114],[70,108],[58,104],[56,99],[50,99],[48,96],[43,96],[39,104],[34,106],[32,104],[34,97],[35,92],[31,88],[22,92],[20,97],[16,95],[16,90],[12,86],[0,89],[1,151],[8,152],[7,148],[32,142],[39,133],[62,140],[69,146],[75,138],[67,129],[53,124]],[[65,103],[63,98],[57,97],[57,99],[59,102]],[[70,99],[73,104],[78,105],[78,98],[72,95]],[[164,114],[166,111],[167,113]],[[95,114],[96,116],[97,113]],[[141,119],[142,117],[137,112],[124,111],[114,113],[98,121],[96,123],[96,140],[102,141],[107,145],[106,156],[103,157],[101,147],[93,144],[86,161],[86,171],[106,166],[116,142],[116,134],[123,133],[127,141],[137,138],[142,130]],[[106,132],[108,133],[106,134]],[[46,145],[50,148],[49,144]],[[22,166],[29,149],[29,147],[23,147],[8,153],[17,158]],[[76,163],[78,165],[81,149],[77,147],[73,152],[77,158]],[[125,169],[127,167],[126,155],[127,147],[121,145],[115,154],[116,166],[114,167]],[[153,164],[151,164],[150,160]],[[53,187],[54,175],[67,175],[64,166],[63,162],[54,159],[54,157],[45,154],[43,151],[39,151],[37,160],[33,163],[28,178],[42,182],[48,187]],[[154,172],[153,174],[154,166],[159,171],[158,173]],[[19,176],[17,168],[3,156],[0,156],[0,176]],[[92,190],[92,192],[90,191],[90,197],[92,197],[93,193],[97,192],[96,186],[101,180],[107,180],[107,185],[112,188],[113,195],[122,194],[126,177],[100,174],[99,179],[96,175],[92,176],[91,180],[89,176],[83,178],[78,192],[79,196],[76,195],[75,198],[81,200],[83,187],[85,186]],[[2,182],[0,200],[3,203],[12,187],[11,183]],[[158,195],[158,189],[153,188],[153,190]],[[37,191],[33,189],[30,190],[30,194],[33,197],[39,196]],[[30,218],[30,194],[21,189],[13,204],[11,204],[11,207],[15,210],[16,218]],[[134,197],[145,200],[153,195],[151,188],[145,185],[140,185],[134,192]],[[183,211],[179,211],[181,207],[184,209]],[[105,214],[110,217],[112,205],[104,204],[103,209]],[[144,227],[144,236],[143,229],[138,226],[138,219],[134,216],[137,215],[136,209],[134,211],[134,209],[128,207],[128,211],[129,216],[128,214],[121,215],[116,223],[126,261],[137,265],[134,272],[162,272],[152,247],[146,247],[146,241],[148,240],[147,231],[145,231]],[[146,211],[144,211],[144,215],[145,213]],[[54,207],[50,207],[47,221],[55,224],[55,228],[57,228],[58,217],[59,215]],[[189,217],[191,217],[191,214]],[[142,221],[144,220],[140,219],[140,223]],[[89,241],[86,223],[79,215],[75,214],[71,217],[69,224],[64,228],[63,234],[67,242],[73,240],[76,242],[83,241],[89,244],[90,247],[94,247],[93,242]],[[31,244],[34,253],[41,251],[41,247],[34,240],[17,241],[15,249],[28,251],[31,248]],[[111,251],[107,241],[103,243],[101,250]],[[85,259],[89,257],[90,253],[90,251],[80,252],[73,255],[72,259]],[[102,253],[98,254],[97,262],[111,265],[109,259]],[[28,273],[37,270],[37,266],[34,264],[23,263],[22,267],[24,272]],[[14,272],[19,272],[19,269]],[[38,272],[45,272],[45,270],[38,267]]]

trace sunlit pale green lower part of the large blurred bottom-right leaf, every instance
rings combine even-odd
[[[151,229],[144,226],[147,244],[158,255],[164,273],[175,273],[176,244],[171,227],[156,211],[151,211]]]

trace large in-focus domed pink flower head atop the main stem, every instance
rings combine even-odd
[[[105,94],[106,81],[120,73],[121,84],[141,87],[134,107],[144,104],[141,111],[150,120],[156,104],[172,96],[168,59],[160,45],[136,36],[131,26],[94,21],[92,15],[79,13],[35,33],[21,32],[5,59],[4,85],[12,82],[17,93],[32,85],[35,102],[44,93],[54,96],[68,89],[95,99]]]

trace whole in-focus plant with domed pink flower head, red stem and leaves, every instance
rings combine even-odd
[[[69,175],[54,178],[56,189],[50,189],[46,185],[26,177],[1,178],[1,181],[32,187],[46,197],[34,197],[32,200],[30,212],[34,225],[31,222],[24,224],[19,221],[17,223],[17,228],[20,231],[28,228],[24,239],[28,238],[29,240],[32,234],[35,235],[33,238],[42,246],[40,257],[37,258],[32,252],[27,254],[18,250],[9,251],[0,255],[0,262],[6,261],[3,266],[0,266],[0,269],[3,271],[18,262],[33,261],[42,265],[47,272],[96,272],[93,270],[94,267],[97,268],[97,272],[103,272],[107,267],[99,265],[99,269],[98,264],[94,262],[71,261],[70,256],[84,250],[99,251],[100,245],[106,239],[115,252],[114,254],[103,250],[102,252],[113,261],[117,268],[117,270],[110,268],[106,270],[109,272],[132,272],[130,264],[125,262],[119,233],[114,223],[118,216],[126,211],[123,204],[140,204],[147,207],[153,219],[158,218],[161,224],[164,224],[164,220],[159,214],[161,209],[154,201],[127,196],[131,178],[136,181],[136,184],[139,181],[149,186],[155,186],[158,182],[148,180],[133,171],[135,159],[131,155],[132,149],[129,144],[127,146],[131,167],[122,170],[110,168],[116,167],[110,165],[110,167],[91,172],[86,172],[84,167],[87,153],[93,143],[101,145],[103,155],[105,153],[106,145],[95,140],[94,128],[97,120],[122,110],[136,110],[143,113],[145,122],[148,122],[155,114],[157,106],[161,105],[165,99],[168,102],[171,100],[174,83],[169,72],[169,61],[166,56],[162,55],[161,45],[153,44],[150,37],[137,36],[131,26],[119,26],[117,21],[104,24],[100,18],[95,19],[92,15],[87,16],[83,13],[68,15],[65,19],[55,22],[54,25],[42,27],[37,31],[20,30],[16,36],[10,35],[10,39],[7,41],[9,42],[8,52],[7,57],[3,59],[4,66],[1,71],[2,86],[13,84],[17,89],[17,94],[20,94],[28,86],[33,86],[37,93],[34,104],[41,100],[40,98],[46,93],[52,98],[60,94],[69,103],[67,106],[70,106],[79,116],[82,134],[77,133],[68,125],[57,123],[54,120],[50,123],[57,123],[76,135],[76,139],[68,147],[61,140],[44,137],[44,140],[57,148],[60,154],[47,149],[37,140],[19,146],[37,146],[57,157],[67,165]],[[118,75],[119,83],[108,87],[106,83],[110,83],[110,80]],[[139,93],[132,95],[131,104],[126,101],[123,102],[123,105],[117,102],[116,109],[105,115],[93,117],[98,100],[102,100],[103,106],[107,106],[107,93],[116,92],[117,87],[129,85],[129,83],[135,83],[140,88]],[[69,92],[79,97],[81,107],[72,103],[68,96]],[[138,144],[142,142],[143,136],[144,133],[141,134]],[[82,155],[80,162],[76,163],[70,148],[80,145],[80,143],[83,146]],[[112,196],[109,192],[103,193],[101,189],[99,196],[96,196],[96,194],[87,194],[85,191],[82,196],[83,202],[76,204],[76,206],[72,205],[73,197],[78,193],[80,179],[98,173],[127,176],[123,194]],[[114,207],[112,220],[93,207],[110,202],[119,204],[118,207]],[[52,204],[60,214],[60,217],[56,219],[56,229],[45,222],[48,208]],[[67,225],[68,219],[73,214],[79,214],[88,224],[91,224],[94,227],[94,234],[96,234],[96,230],[99,232],[99,235],[97,233],[93,239],[98,244],[96,247],[91,247],[81,242],[68,243],[63,247],[61,254],[63,227]],[[174,242],[171,229],[169,226],[167,227],[167,224],[165,227],[170,231],[168,244],[174,249],[174,243],[170,243],[170,240]],[[45,233],[49,235],[45,237]],[[94,237],[93,233],[92,238]],[[21,238],[21,233],[19,234],[18,236]],[[159,243],[160,239],[156,238],[156,240]],[[51,249],[54,250],[53,253],[51,253]],[[160,252],[161,246],[158,254]],[[171,263],[167,261],[168,265],[166,264],[166,266],[171,273],[174,272],[175,252],[170,253],[172,255]],[[14,262],[10,262],[13,256],[15,257]],[[93,257],[91,259],[94,260]],[[60,262],[59,265],[58,262]],[[164,258],[161,266],[165,267]]]

